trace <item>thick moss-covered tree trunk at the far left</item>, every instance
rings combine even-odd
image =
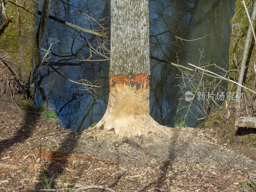
[[[17,77],[28,85],[31,74],[31,59],[36,58],[36,1],[8,1],[6,15],[13,16],[12,23],[0,38],[0,49],[8,54],[8,65],[14,67]]]

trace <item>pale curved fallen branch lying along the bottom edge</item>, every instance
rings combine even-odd
[[[108,188],[108,187],[104,187],[102,185],[88,185],[88,186],[83,186],[80,187],[78,189],[74,189],[74,188],[62,188],[62,189],[34,189],[34,190],[30,190],[28,192],[36,192],[36,191],[65,191],[65,190],[72,190],[72,191],[84,191],[87,189],[104,189],[106,191],[110,191],[110,192],[116,192],[114,189]]]

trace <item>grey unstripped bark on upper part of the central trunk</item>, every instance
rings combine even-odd
[[[147,0],[111,0],[109,76],[150,76]]]

